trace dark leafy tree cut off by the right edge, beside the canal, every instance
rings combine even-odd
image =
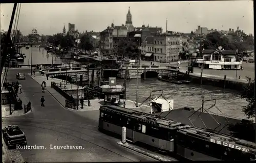
[[[252,81],[250,85],[243,88],[241,94],[242,98],[245,98],[248,104],[243,107],[243,112],[247,118],[255,118],[255,98],[254,98],[254,87],[255,82]]]

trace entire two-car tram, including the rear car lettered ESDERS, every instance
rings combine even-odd
[[[189,160],[252,160],[255,144],[120,106],[100,106],[99,130],[121,135]]]

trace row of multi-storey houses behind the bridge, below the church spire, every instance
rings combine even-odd
[[[168,63],[181,59],[182,54],[196,53],[202,38],[189,35],[172,31],[163,33],[161,27],[149,25],[129,32],[124,24],[115,26],[112,23],[100,33],[99,47],[103,55],[117,56],[119,42],[124,39],[137,44],[145,60]]]

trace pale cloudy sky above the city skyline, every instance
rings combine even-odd
[[[237,29],[245,33],[253,30],[253,1],[201,1],[201,2],[131,2],[131,3],[41,3],[22,4],[18,29],[23,34],[53,35],[62,32],[63,25],[74,23],[82,31],[103,31],[114,21],[125,24],[130,6],[134,26],[143,23],[168,31],[189,33],[198,25],[208,29]],[[1,30],[7,31],[13,4],[1,4]]]

